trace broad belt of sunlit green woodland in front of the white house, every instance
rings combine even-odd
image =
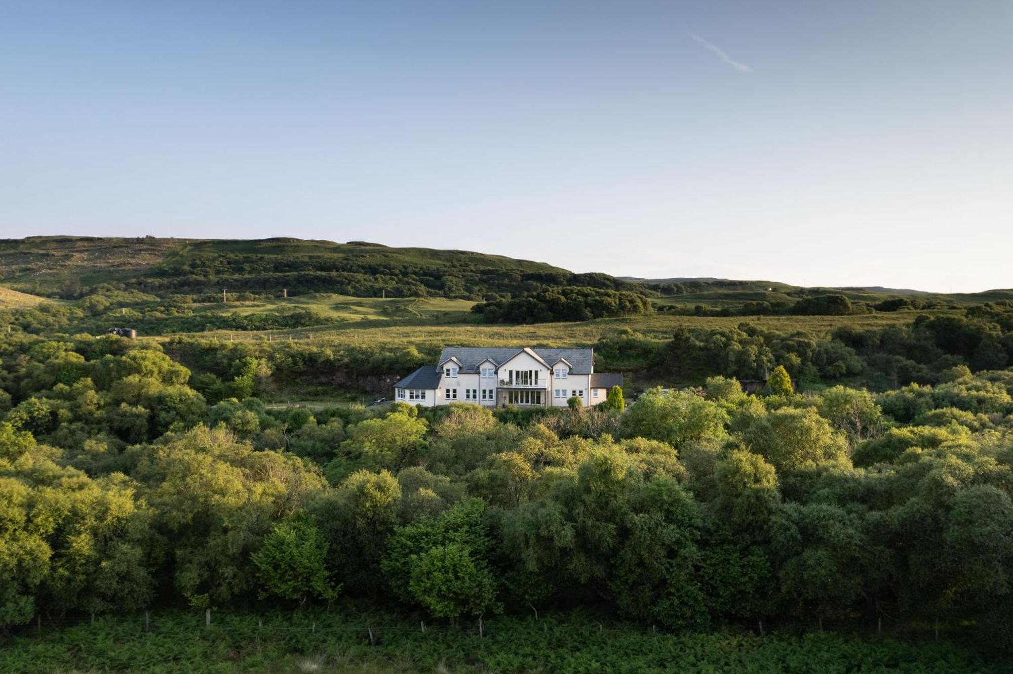
[[[218,402],[155,345],[0,342],[0,625],[342,598],[435,618],[594,608],[1013,630],[1013,381],[875,397],[737,382],[535,417]],[[783,383],[782,383],[783,384]],[[781,388],[783,391],[783,386]]]

